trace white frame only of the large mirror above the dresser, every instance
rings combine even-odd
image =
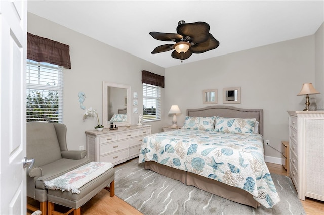
[[[126,122],[114,122],[117,126],[126,126],[131,124],[131,86],[125,84],[117,84],[112,82],[102,82],[102,125],[105,128],[110,127],[110,121],[108,121],[108,104],[107,104],[107,87],[117,87],[126,89],[127,95],[127,121]]]

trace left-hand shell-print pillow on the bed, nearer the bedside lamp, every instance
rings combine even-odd
[[[185,129],[212,130],[214,128],[214,117],[188,117],[186,116],[184,125]]]

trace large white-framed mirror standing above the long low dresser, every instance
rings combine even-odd
[[[102,122],[104,127],[131,124],[131,86],[102,82]]]

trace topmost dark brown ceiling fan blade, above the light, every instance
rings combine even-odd
[[[180,24],[177,27],[177,33],[181,34],[184,38],[189,36],[187,39],[194,43],[202,43],[208,40],[210,26],[206,22],[194,22]]]

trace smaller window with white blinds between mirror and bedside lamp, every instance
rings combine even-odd
[[[161,87],[143,83],[143,121],[161,119]]]

